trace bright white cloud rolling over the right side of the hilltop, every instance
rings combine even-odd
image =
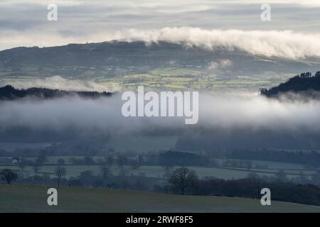
[[[192,27],[167,27],[158,30],[129,29],[114,35],[116,40],[146,43],[166,41],[213,50],[225,47],[238,48],[252,55],[284,57],[292,60],[320,57],[320,34],[303,34],[293,31],[242,31],[215,30]]]

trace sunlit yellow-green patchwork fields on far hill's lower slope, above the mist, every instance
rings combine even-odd
[[[224,91],[230,89],[258,90],[272,87],[282,79],[261,79],[259,77],[238,77],[237,79],[219,79],[215,74],[202,74],[196,70],[162,69],[152,70],[148,74],[126,74],[123,77],[97,79],[98,84],[106,88],[137,89],[206,89]]]

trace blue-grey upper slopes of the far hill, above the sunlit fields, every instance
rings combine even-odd
[[[270,77],[320,67],[319,59],[285,60],[254,56],[237,49],[206,50],[176,43],[142,41],[69,44],[49,48],[12,48],[0,51],[1,77],[101,79],[125,74],[178,68],[222,79]],[[265,75],[267,73],[267,75]],[[193,74],[195,75],[195,74]],[[197,74],[198,75],[198,74]],[[191,76],[186,73],[186,76]]]

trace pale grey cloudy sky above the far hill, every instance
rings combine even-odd
[[[48,21],[48,4],[58,6],[58,21]],[[270,4],[271,21],[260,19],[262,4]],[[314,42],[320,43],[320,1],[0,1],[0,50],[18,46],[47,47],[126,38],[146,40],[150,36],[154,38],[154,33],[159,39],[159,33],[164,28],[222,31],[223,34],[237,31],[237,34],[242,34],[242,39],[246,35],[252,37],[252,34],[254,39],[259,38],[255,35],[257,31],[264,31],[266,35],[274,34],[274,31],[290,31],[306,35],[311,48]],[[192,29],[189,35],[202,35]],[[288,35],[284,38],[288,38]],[[292,56],[297,57],[296,54]]]

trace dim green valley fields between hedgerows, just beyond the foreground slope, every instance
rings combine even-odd
[[[54,177],[55,167],[59,159],[65,160],[65,168],[67,170],[67,179],[70,177],[77,177],[80,175],[80,172],[87,170],[92,171],[94,175],[100,174],[100,165],[72,165],[70,163],[71,157],[83,158],[82,156],[50,156],[48,157],[48,162],[42,165],[39,172],[36,174],[33,171],[31,166],[24,167],[23,170],[18,168],[18,165],[0,165],[0,169],[9,168],[11,170],[16,170],[25,177],[30,177],[33,175],[43,175],[48,174],[51,177]],[[8,157],[11,158],[11,157]],[[102,159],[103,157],[93,157],[95,161]],[[36,157],[28,157],[28,160],[35,160]],[[218,160],[219,161],[219,160]],[[316,173],[314,170],[306,170],[303,165],[286,163],[286,162],[267,162],[267,161],[252,161],[253,166],[255,165],[267,165],[266,169],[257,169],[252,167],[252,169],[247,170],[246,168],[241,167],[223,167],[223,166],[214,166],[214,167],[192,167],[188,166],[191,170],[195,170],[197,175],[201,178],[203,177],[217,177],[221,179],[239,179],[244,178],[249,175],[249,173],[257,173],[260,176],[274,177],[279,170],[284,170],[287,177],[299,177],[300,175],[305,175],[310,178],[311,175]],[[154,177],[162,178],[165,171],[164,167],[161,166],[148,166],[142,165],[139,169],[134,170],[129,165],[124,165],[122,168],[119,168],[117,165],[110,165],[110,171],[113,175],[119,175],[120,170],[124,170],[127,175],[144,175],[145,177]],[[123,172],[123,171],[122,171]]]

